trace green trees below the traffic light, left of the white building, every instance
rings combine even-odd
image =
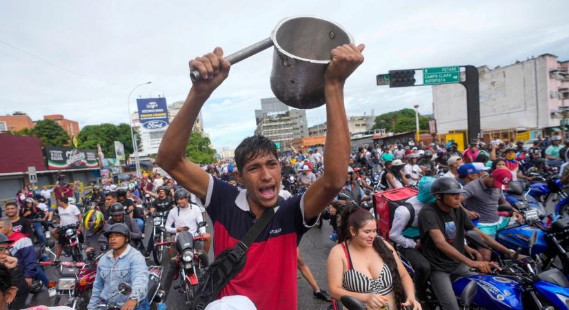
[[[419,114],[419,129],[428,130],[429,121],[432,118]],[[415,110],[403,109],[381,114],[375,118],[373,129],[385,128],[387,132],[412,132],[415,131]]]

